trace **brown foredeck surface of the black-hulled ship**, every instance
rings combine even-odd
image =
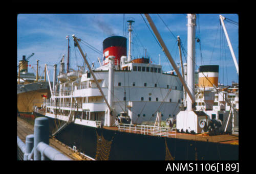
[[[118,131],[118,127],[103,127],[103,129]],[[126,131],[126,132],[129,132],[129,131]],[[218,143],[226,143],[226,144],[237,144],[237,145],[239,144],[239,136],[229,135],[229,134],[209,136],[207,134],[193,135],[193,134],[177,133],[176,138],[196,140],[196,141],[218,142]]]

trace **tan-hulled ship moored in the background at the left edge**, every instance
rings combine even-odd
[[[17,114],[23,117],[33,117],[32,108],[36,106],[40,108],[42,104],[51,97],[49,82],[46,81],[46,75],[38,76],[38,62],[36,75],[28,72],[28,59],[23,56],[18,62],[17,72]],[[51,82],[52,83],[52,82]]]

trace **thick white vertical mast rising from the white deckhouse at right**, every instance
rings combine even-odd
[[[195,26],[196,14],[187,14],[187,86],[191,95],[195,96]],[[187,99],[187,111],[193,111],[192,104],[189,97]]]

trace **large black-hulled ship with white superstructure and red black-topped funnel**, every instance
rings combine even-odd
[[[186,98],[193,103],[195,98],[168,53],[177,74],[164,72],[148,57],[132,59],[134,20],[127,22],[128,54],[125,37],[108,37],[103,41],[102,65],[96,69],[88,63],[81,39],[72,35],[89,70],[65,72],[62,59],[50,100],[40,112],[34,107],[37,116],[49,118],[51,135],[95,160],[238,160],[238,136],[221,133],[228,121],[195,109],[191,102],[185,111],[183,87]],[[193,31],[191,22],[195,15],[189,14],[188,28]],[[189,77],[188,69],[187,81]],[[216,135],[209,135],[209,130]]]

